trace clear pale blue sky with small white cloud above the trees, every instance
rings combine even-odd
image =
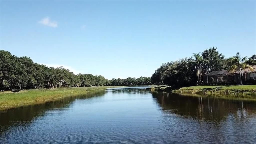
[[[256,54],[256,1],[0,1],[0,49],[105,78],[216,46]]]

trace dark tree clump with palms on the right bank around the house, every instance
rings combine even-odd
[[[171,88],[180,88],[202,84],[202,75],[211,71],[228,69],[232,72],[239,68],[251,68],[256,65],[256,55],[241,58],[239,52],[236,56],[224,58],[216,47],[205,49],[201,54],[182,58],[177,61],[163,63],[152,74],[151,80],[156,85],[169,85]]]

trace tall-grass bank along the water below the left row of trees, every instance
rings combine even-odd
[[[0,92],[0,109],[11,108],[33,103],[44,103],[53,99],[67,97],[78,94],[85,94],[91,91],[103,90],[118,86],[99,86],[99,87],[71,87],[57,89],[30,89],[20,92]],[[122,86],[119,86],[122,87]]]

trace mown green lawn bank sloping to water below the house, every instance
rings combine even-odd
[[[183,87],[172,92],[195,94],[232,94],[256,96],[256,85],[231,85],[231,86],[191,86]]]

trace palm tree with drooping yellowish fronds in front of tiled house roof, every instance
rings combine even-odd
[[[241,75],[241,70],[249,68],[250,70],[253,71],[253,68],[246,64],[247,56],[241,58],[241,55],[239,52],[237,52],[236,56],[228,58],[228,63],[231,64],[230,69],[228,71],[231,71],[233,74],[239,70],[240,73],[240,85],[242,84],[242,75]],[[244,75],[245,75],[245,80],[246,80],[246,71],[244,70]]]

